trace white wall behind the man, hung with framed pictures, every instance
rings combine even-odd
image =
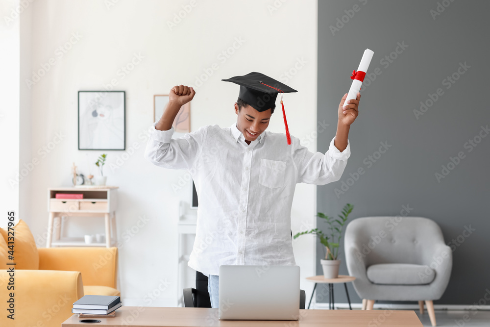
[[[87,175],[90,167],[94,174],[92,163],[107,152],[108,184],[120,186],[117,228],[123,241],[123,301],[125,305],[172,306],[180,291],[176,280],[178,201],[188,201],[190,184],[174,191],[172,184],[178,184],[185,172],[158,168],[143,158],[144,131],[153,119],[153,95],[166,94],[175,84],[195,85],[192,130],[209,124],[230,126],[236,121],[233,105],[239,89],[221,78],[262,72],[298,90],[284,98],[288,123],[294,136],[311,136],[317,124],[317,1],[197,1],[192,7],[194,1],[189,0],[126,0],[107,7],[110,1],[40,0],[31,5],[31,61],[26,59],[22,64],[30,65],[33,71],[42,69],[42,65],[47,67],[50,58],[55,64],[31,88],[32,134],[21,148],[29,147],[31,157],[38,158],[39,164],[30,174],[30,186],[21,182],[21,189],[28,188],[25,196],[29,197],[23,203],[32,203],[30,214],[21,218],[29,224],[38,246],[44,247],[47,188],[68,186],[73,162],[81,173]],[[185,17],[169,27],[179,13],[185,13]],[[66,47],[71,49],[58,58],[56,49],[70,40],[72,44]],[[233,46],[236,49],[230,48]],[[221,54],[227,50],[234,52],[228,58]],[[121,67],[130,63],[135,53],[143,60],[129,74],[121,75]],[[196,78],[210,70],[212,75],[197,87],[200,83]],[[293,76],[287,78],[285,71]],[[32,71],[22,75],[21,81],[31,75]],[[102,90],[111,79],[118,82],[115,90],[126,91],[128,154],[78,151],[77,91]],[[269,128],[284,132],[280,111],[273,115]],[[57,134],[62,135],[58,144]],[[316,142],[308,146],[314,151]],[[122,165],[117,164],[118,158]],[[315,199],[315,186],[297,186],[293,232],[314,226]],[[148,221],[135,227],[142,217]],[[66,230],[69,236],[103,232],[102,221],[97,218],[70,219],[75,228]],[[132,227],[138,231],[131,236],[127,231]],[[294,241],[301,286],[307,294],[311,294],[313,285],[303,277],[316,275],[315,241],[307,237]],[[157,298],[148,300],[162,280],[170,285]]]

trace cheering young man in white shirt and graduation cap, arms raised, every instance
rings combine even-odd
[[[277,94],[295,90],[260,73],[225,81],[240,85],[237,122],[226,128],[203,126],[172,139],[175,116],[196,94],[192,87],[174,86],[145,151],[153,164],[187,169],[194,179],[199,207],[188,265],[209,277],[212,307],[219,303],[221,265],[295,265],[291,206],[296,183],[324,185],[340,179],[361,97],[358,93],[343,108],[347,94],[343,96],[335,138],[325,154],[313,153],[294,136],[288,144],[287,127],[287,135],[266,131]]]

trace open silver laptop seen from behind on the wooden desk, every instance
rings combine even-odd
[[[219,280],[219,319],[299,318],[299,266],[220,266]]]

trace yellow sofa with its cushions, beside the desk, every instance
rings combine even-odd
[[[59,327],[85,294],[121,295],[117,248],[37,248],[25,222],[14,228],[14,260],[8,258],[7,228],[0,228],[0,326]],[[14,320],[7,317],[9,305]]]

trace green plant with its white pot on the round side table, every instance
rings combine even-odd
[[[305,234],[313,234],[319,237],[320,243],[325,246],[326,254],[325,259],[321,259],[320,263],[323,268],[323,276],[325,278],[337,278],[339,277],[339,266],[341,260],[337,260],[340,248],[340,239],[342,238],[342,229],[347,221],[347,217],[352,212],[354,206],[352,204],[345,204],[342,209],[342,214],[339,215],[340,219],[328,217],[327,215],[319,212],[317,217],[325,219],[328,224],[328,232],[323,232],[318,228],[314,228],[308,231],[299,232],[294,235],[294,239]],[[328,235],[327,235],[328,234]]]

